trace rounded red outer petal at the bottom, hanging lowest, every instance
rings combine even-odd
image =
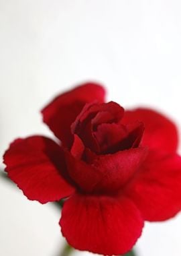
[[[126,197],[75,194],[64,203],[62,234],[72,247],[100,253],[127,253],[141,235],[143,219]]]

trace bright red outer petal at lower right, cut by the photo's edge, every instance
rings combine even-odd
[[[143,218],[161,221],[181,210],[181,158],[178,155],[156,159],[153,154],[127,187]]]

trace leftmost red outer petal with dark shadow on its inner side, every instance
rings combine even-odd
[[[60,200],[74,189],[62,177],[65,171],[62,149],[42,136],[17,139],[5,152],[9,178],[30,200],[40,203]]]

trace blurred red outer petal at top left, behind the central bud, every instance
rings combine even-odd
[[[69,147],[72,143],[70,125],[84,104],[95,100],[104,102],[104,98],[105,89],[99,84],[82,84],[74,90],[60,94],[42,110],[44,123],[50,127],[64,145]]]

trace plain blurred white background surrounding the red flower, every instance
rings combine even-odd
[[[51,137],[40,109],[90,80],[126,108],[167,113],[181,131],[180,11],[180,0],[0,0],[0,156],[16,137]],[[58,208],[2,177],[0,205],[0,255],[60,256]],[[137,255],[181,255],[180,230],[181,214],[147,223]]]

